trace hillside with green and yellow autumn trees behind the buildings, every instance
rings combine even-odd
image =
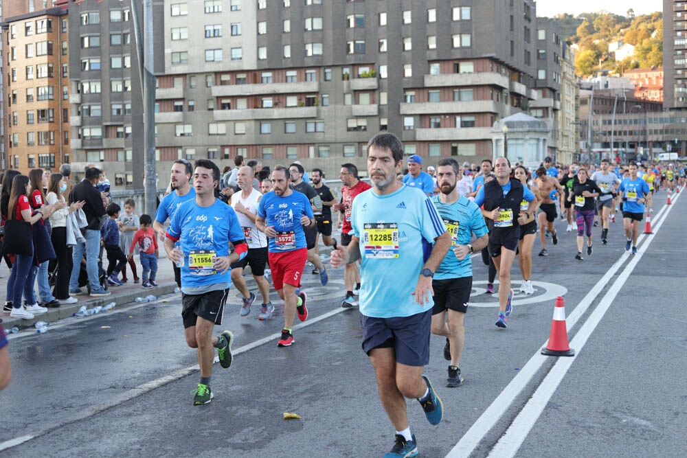
[[[583,13],[578,16],[559,14],[554,19],[561,27],[561,37],[577,44],[575,67],[578,76],[589,76],[597,71],[610,71],[618,75],[640,67],[663,65],[663,14],[654,12],[627,16],[605,11]],[[634,55],[616,61],[609,52],[609,43],[623,41],[635,47]]]

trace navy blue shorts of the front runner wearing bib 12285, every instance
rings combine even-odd
[[[363,350],[368,356],[375,348],[393,348],[396,363],[407,366],[429,364],[431,309],[410,317],[374,318],[360,314]]]

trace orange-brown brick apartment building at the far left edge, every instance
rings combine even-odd
[[[5,13],[21,12],[18,2],[3,3]],[[5,14],[2,23],[4,165],[22,172],[59,168],[71,154],[69,25],[65,8],[53,3],[53,8]]]

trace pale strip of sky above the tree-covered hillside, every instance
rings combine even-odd
[[[561,0],[537,0],[537,16],[539,17],[552,17],[560,13],[577,16],[584,12],[600,10],[626,16],[630,8],[635,11],[635,15],[649,14],[663,10],[663,4],[658,0],[574,0],[570,3]]]

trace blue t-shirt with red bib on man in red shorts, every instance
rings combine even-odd
[[[280,197],[270,191],[260,199],[258,216],[264,218],[267,226],[273,226],[277,231],[275,238],[269,238],[267,250],[270,253],[284,253],[308,247],[300,218],[314,216],[313,207],[305,194],[291,191],[290,196]]]

